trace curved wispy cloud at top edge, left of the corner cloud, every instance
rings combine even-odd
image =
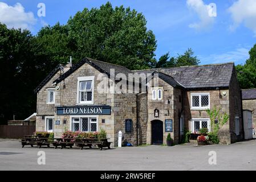
[[[190,28],[196,30],[208,29],[214,23],[214,18],[209,16],[209,5],[205,5],[202,0],[187,0],[186,5],[195,11],[200,18],[200,22],[189,24]]]

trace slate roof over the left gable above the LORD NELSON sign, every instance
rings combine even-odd
[[[118,73],[124,73],[128,77],[128,73],[132,73],[132,71],[130,71],[128,68],[122,67],[120,65],[105,63],[103,61],[98,61],[87,57],[72,66],[66,73],[64,73],[54,82],[58,84],[60,81],[64,80],[66,77],[68,77],[71,73],[75,72],[76,69],[80,68],[85,63],[92,65],[92,67],[96,68],[99,72],[107,74],[108,77],[110,76],[110,69],[115,69],[115,75],[117,75]]]

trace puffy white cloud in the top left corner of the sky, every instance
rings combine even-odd
[[[9,6],[0,2],[0,22],[5,23],[8,28],[31,29],[36,23],[34,14],[26,13],[21,3]]]

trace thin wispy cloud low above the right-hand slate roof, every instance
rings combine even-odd
[[[235,62],[237,64],[245,63],[249,58],[249,49],[247,48],[237,48],[234,51],[228,51],[221,54],[213,54],[209,56],[198,56],[201,63],[227,63]]]

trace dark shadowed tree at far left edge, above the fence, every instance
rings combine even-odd
[[[33,90],[44,65],[36,59],[34,43],[30,31],[8,29],[0,23],[0,123],[13,119],[13,115],[25,119],[36,111]]]

